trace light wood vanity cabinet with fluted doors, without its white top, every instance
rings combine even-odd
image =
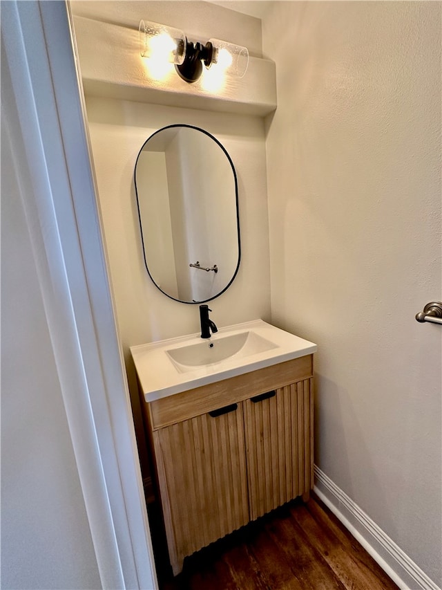
[[[174,575],[313,486],[313,356],[143,403]]]

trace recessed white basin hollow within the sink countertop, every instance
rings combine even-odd
[[[198,344],[166,350],[166,354],[171,358],[177,371],[185,373],[195,371],[195,367],[202,365],[213,365],[215,362],[233,357],[245,358],[277,348],[277,344],[253,331],[220,336],[213,342],[202,340]]]

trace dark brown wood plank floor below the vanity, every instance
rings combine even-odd
[[[187,557],[176,578],[161,559],[163,541],[156,543],[162,590],[398,588],[315,497],[294,500]]]

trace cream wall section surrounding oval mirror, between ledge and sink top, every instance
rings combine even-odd
[[[211,302],[219,326],[269,320],[269,239],[264,122],[257,117],[175,109],[88,97],[88,121],[100,208],[124,351],[134,344],[199,330],[198,306],[173,301],[144,266],[133,169],[157,129],[187,123],[206,129],[227,149],[238,175],[241,265],[231,287]],[[216,223],[216,219],[213,219]]]

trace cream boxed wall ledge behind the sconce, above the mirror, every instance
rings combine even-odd
[[[226,77],[218,91],[204,89],[203,77],[188,84],[173,70],[158,82],[146,72],[138,30],[79,16],[73,21],[86,95],[262,117],[276,109],[276,68],[269,59],[249,57],[244,77]]]

